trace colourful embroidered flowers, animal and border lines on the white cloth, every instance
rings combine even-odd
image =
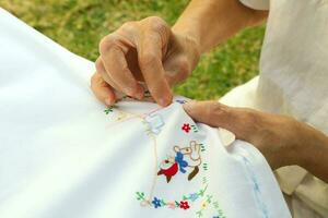
[[[188,146],[178,146],[175,145],[173,147],[174,155],[168,156],[165,160],[163,160],[160,165],[160,170],[157,166],[157,150],[156,150],[156,135],[159,135],[165,125],[164,119],[160,113],[155,113],[157,110],[152,111],[148,114],[133,114],[118,110],[116,106],[108,107],[104,112],[106,114],[115,113],[116,123],[124,122],[130,119],[140,119],[141,122],[145,126],[145,133],[150,136],[153,142],[153,152],[154,152],[154,162],[155,162],[155,172],[152,186],[150,189],[149,195],[147,196],[144,192],[136,192],[137,201],[140,202],[141,206],[149,206],[152,208],[168,208],[168,209],[181,209],[181,210],[190,210],[194,208],[195,215],[197,217],[208,216],[208,210],[214,210],[214,215],[211,216],[213,218],[225,218],[223,211],[220,208],[218,201],[213,199],[213,196],[207,193],[208,191],[208,179],[206,175],[201,178],[201,189],[197,192],[189,193],[187,195],[183,195],[178,199],[167,201],[161,198],[159,196],[153,196],[154,189],[156,185],[156,180],[159,175],[165,175],[166,182],[168,183],[172,178],[177,173],[188,174],[188,181],[192,180],[198,173],[199,170],[202,169],[207,171],[209,169],[209,165],[207,162],[202,162],[201,153],[204,153],[206,146],[201,143],[197,143],[196,141],[191,141]],[[186,125],[183,131],[189,133],[190,131],[198,132],[198,129],[194,124],[184,123]],[[183,126],[184,126],[183,125]],[[199,208],[198,210],[196,208]]]

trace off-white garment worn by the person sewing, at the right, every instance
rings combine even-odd
[[[260,75],[222,101],[288,114],[328,134],[328,1],[241,2],[253,9],[270,10]],[[279,169],[277,178],[286,194],[296,195],[328,217],[327,183],[297,166]]]

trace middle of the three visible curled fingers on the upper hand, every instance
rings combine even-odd
[[[108,35],[101,43],[101,57],[104,68],[115,84],[125,94],[141,99],[143,88],[137,83],[129,70],[126,53],[129,50],[130,41],[118,35]]]

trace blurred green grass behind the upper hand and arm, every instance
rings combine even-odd
[[[126,21],[160,15],[174,24],[187,0],[0,0],[0,7],[69,50],[92,61],[98,41]],[[215,99],[258,74],[265,26],[248,28],[203,55],[175,93]]]

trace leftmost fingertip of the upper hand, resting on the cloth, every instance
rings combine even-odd
[[[107,106],[115,104],[115,94],[113,88],[103,80],[99,73],[91,77],[91,89],[98,100]]]

